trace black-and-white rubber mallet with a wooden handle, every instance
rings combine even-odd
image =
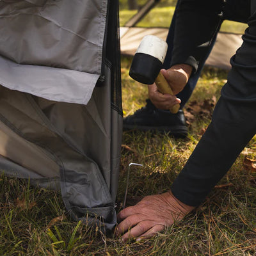
[[[160,72],[167,48],[167,43],[161,38],[153,35],[144,36],[134,54],[129,75],[143,84],[156,83],[159,92],[173,95],[172,88]],[[177,113],[179,108],[180,104],[176,104],[170,111]]]

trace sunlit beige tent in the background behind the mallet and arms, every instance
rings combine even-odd
[[[138,24],[138,22],[159,2],[160,0],[148,0],[147,3],[120,28],[122,54],[133,56],[145,35],[155,35],[166,40],[168,28],[140,28],[136,26],[136,24]],[[229,60],[242,44],[243,40],[241,36],[241,34],[237,33],[220,31],[205,65],[227,70],[230,69],[231,65]]]

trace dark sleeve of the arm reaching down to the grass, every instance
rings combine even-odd
[[[251,3],[249,28],[230,60],[212,122],[172,184],[184,204],[199,205],[256,133],[256,1]]]

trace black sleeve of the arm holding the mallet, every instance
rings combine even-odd
[[[197,70],[220,28],[223,8],[223,0],[180,0],[171,65],[186,63]]]

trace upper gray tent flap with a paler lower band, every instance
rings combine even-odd
[[[102,68],[107,7],[106,0],[0,1],[0,83],[87,104]]]

